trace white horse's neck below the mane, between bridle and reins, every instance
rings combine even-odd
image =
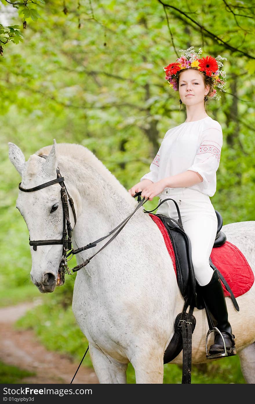
[[[103,165],[99,171],[86,164],[72,162],[68,173],[65,165],[62,170],[60,168],[67,190],[70,188],[78,194],[78,198],[74,198],[78,206],[78,220],[73,232],[73,240],[78,246],[81,242],[91,242],[109,233],[137,206],[137,202]],[[135,215],[143,220],[141,213],[137,211]]]

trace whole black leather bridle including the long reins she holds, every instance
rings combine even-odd
[[[40,155],[39,157],[42,157],[42,158],[46,159],[48,156]],[[74,272],[77,272],[81,268],[85,267],[91,261],[91,259],[93,257],[95,257],[95,255],[97,255],[101,250],[103,250],[103,248],[105,248],[108,244],[110,244],[110,242],[112,242],[112,240],[114,240],[114,238],[120,233],[120,231],[123,229],[123,227],[129,221],[129,219],[131,219],[131,217],[134,215],[134,213],[143,204],[145,204],[145,202],[147,202],[149,198],[141,199],[141,192],[137,192],[134,195],[134,198],[137,197],[137,202],[139,202],[139,203],[136,206],[135,210],[133,210],[133,212],[128,217],[126,217],[126,219],[124,219],[117,227],[115,227],[115,229],[110,231],[110,233],[108,233],[106,236],[101,237],[98,240],[95,240],[94,242],[89,243],[84,247],[80,247],[80,248],[77,248],[76,250],[74,250],[72,248],[72,231],[73,231],[73,228],[72,228],[71,223],[70,223],[69,208],[68,208],[68,202],[69,202],[70,206],[72,208],[72,213],[74,215],[74,226],[75,226],[77,219],[76,219],[76,212],[75,212],[75,208],[74,208],[74,202],[73,202],[71,196],[69,195],[69,193],[68,193],[68,191],[66,189],[66,186],[65,186],[65,183],[64,183],[64,177],[61,176],[58,167],[56,169],[56,173],[57,173],[57,178],[53,179],[52,181],[45,182],[45,183],[43,183],[41,185],[38,185],[37,187],[33,187],[33,188],[22,188],[20,186],[21,183],[19,183],[19,189],[21,191],[23,191],[23,192],[34,192],[34,191],[38,191],[39,189],[49,187],[50,185],[53,185],[53,184],[56,184],[56,183],[59,183],[59,185],[61,186],[61,202],[62,202],[62,208],[63,208],[63,233],[62,233],[62,238],[60,240],[30,240],[30,237],[29,237],[29,244],[30,244],[30,246],[33,246],[34,251],[37,250],[37,246],[62,244],[62,246],[63,246],[63,248],[62,248],[62,259],[61,259],[61,263],[59,265],[59,269],[62,270],[65,274],[70,275],[70,274],[74,274]],[[67,202],[67,196],[68,196],[68,202]],[[158,206],[155,209],[153,209],[153,210],[144,210],[144,212],[145,213],[153,212],[162,203],[166,202],[167,200],[172,200],[175,203],[175,206],[177,208],[178,221],[176,221],[175,219],[171,219],[171,220],[175,221],[175,223],[177,223],[177,225],[183,230],[183,226],[182,226],[182,222],[181,222],[181,215],[180,215],[178,204],[175,202],[175,200],[173,200],[171,198],[164,199],[162,202],[160,202],[160,204],[158,204]],[[118,230],[118,231],[116,231],[116,230]],[[89,248],[95,247],[97,245],[97,243],[99,243],[100,241],[104,240],[105,238],[111,236],[114,233],[114,231],[116,231],[116,233],[110,238],[110,240],[107,241],[107,243],[105,243],[103,245],[103,247],[101,247],[97,252],[95,252],[95,254],[93,254],[91,257],[87,258],[86,261],[82,262],[80,265],[77,265],[76,267],[72,268],[71,270],[68,268],[67,261],[69,261],[73,257],[73,255],[76,255],[81,251],[88,250]],[[71,257],[70,257],[70,255],[71,255]],[[70,257],[70,258],[67,259],[68,257]]]

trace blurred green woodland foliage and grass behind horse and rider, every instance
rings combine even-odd
[[[180,49],[201,47],[201,57],[228,59],[226,93],[207,103],[207,114],[223,129],[211,201],[223,225],[254,220],[255,6],[238,0],[24,3],[0,0],[1,313],[31,303],[12,322],[13,334],[30,329],[46,349],[79,362],[87,341],[71,309],[75,276],[48,295],[30,281],[27,227],[15,209],[20,177],[8,160],[8,142],[26,160],[53,139],[81,144],[129,189],[149,171],[166,131],[186,119],[163,67]],[[1,383],[31,380],[3,358]],[[93,371],[89,355],[82,366]],[[166,364],[164,383],[181,383],[181,373]],[[128,383],[135,383],[131,365]],[[245,383],[238,356],[193,366],[192,383]]]

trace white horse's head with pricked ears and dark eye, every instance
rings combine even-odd
[[[54,141],[51,150],[49,148],[50,152],[46,158],[33,154],[27,162],[17,145],[8,145],[9,159],[22,179],[16,207],[25,220],[30,240],[61,240],[64,217],[59,183],[35,191],[25,191],[56,179],[56,142]],[[63,244],[31,245],[30,249],[32,282],[42,293],[53,292],[56,286],[64,282],[60,271]]]

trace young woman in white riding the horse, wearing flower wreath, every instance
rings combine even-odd
[[[219,68],[226,58],[200,59],[201,48],[196,53],[193,46],[181,51],[184,55],[164,70],[170,86],[179,91],[179,102],[186,106],[187,119],[166,132],[150,173],[129,193],[134,196],[142,191],[141,197],[149,200],[159,195],[160,202],[172,198],[178,203],[183,229],[190,238],[194,273],[202,297],[221,331],[228,355],[234,355],[234,335],[223,288],[217,271],[209,264],[217,233],[217,217],[209,197],[216,191],[223,136],[221,125],[207,115],[205,105],[208,97],[220,98],[215,87],[225,91],[225,82],[219,77],[225,78],[225,72]],[[157,213],[178,219],[173,201],[166,201]],[[220,355],[224,351],[221,335],[215,333],[209,354]]]

